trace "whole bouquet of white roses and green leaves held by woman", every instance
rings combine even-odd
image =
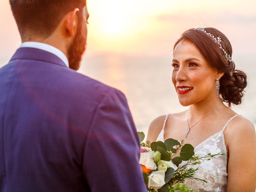
[[[199,157],[194,155],[194,147],[191,144],[184,144],[183,140],[179,142],[170,138],[164,142],[143,143],[145,134],[138,134],[141,146],[140,164],[148,192],[192,192],[194,190],[188,189],[184,184],[186,179],[206,182],[194,176],[197,169],[192,166],[200,164],[202,160],[222,155],[207,154]]]

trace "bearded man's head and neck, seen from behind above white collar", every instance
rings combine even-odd
[[[22,42],[54,44],[78,70],[87,38],[86,0],[10,0]]]

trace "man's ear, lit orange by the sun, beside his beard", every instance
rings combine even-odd
[[[70,36],[74,36],[76,34],[79,11],[80,10],[78,8],[75,8],[74,10],[68,12],[65,16],[65,28]]]

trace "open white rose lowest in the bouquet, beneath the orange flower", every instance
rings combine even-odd
[[[156,190],[164,186],[164,171],[153,171],[148,176],[148,188],[154,187]]]

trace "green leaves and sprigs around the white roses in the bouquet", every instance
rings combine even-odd
[[[148,188],[148,192],[193,192],[193,189],[189,189],[184,184],[186,179],[199,180],[201,182],[206,182],[200,178],[195,177],[197,169],[193,168],[193,165],[200,164],[204,160],[210,160],[224,154],[207,154],[205,156],[195,156],[194,147],[190,144],[184,144],[184,140],[179,142],[172,138],[167,139],[165,142],[157,141],[150,143],[146,141],[142,143],[145,138],[143,132],[138,132],[141,146],[148,152],[150,150],[156,152],[154,154],[154,162],[159,164],[159,157],[164,161],[172,161],[178,168],[174,170],[173,168],[168,168],[165,172],[165,185],[156,190],[154,187]],[[183,163],[182,163],[183,161]],[[189,168],[190,167],[190,168]],[[146,169],[142,166],[143,178],[146,186],[148,186],[148,176],[154,170]]]

